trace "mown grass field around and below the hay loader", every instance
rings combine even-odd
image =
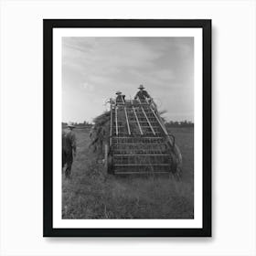
[[[183,176],[110,176],[89,148],[89,131],[75,130],[77,157],[62,176],[62,219],[193,219],[194,130],[172,128],[183,155]]]

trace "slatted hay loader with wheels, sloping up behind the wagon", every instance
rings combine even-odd
[[[110,100],[109,144],[105,146],[105,168],[109,174],[180,175],[182,156],[175,137],[167,132],[155,102]]]

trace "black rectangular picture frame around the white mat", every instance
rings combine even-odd
[[[201,27],[203,31],[203,228],[202,229],[54,229],[53,228],[53,28]],[[210,19],[44,19],[44,237],[211,237],[211,20]]]

